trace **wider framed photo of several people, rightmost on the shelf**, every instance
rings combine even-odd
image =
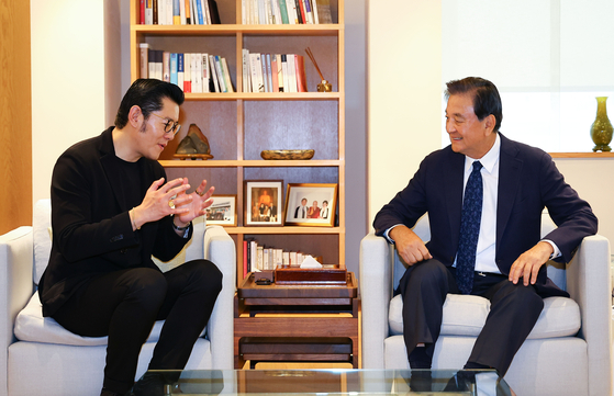
[[[286,225],[333,227],[336,207],[337,184],[288,184]]]

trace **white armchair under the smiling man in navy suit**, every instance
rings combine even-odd
[[[543,216],[543,235],[555,227]],[[428,240],[427,216],[414,231]],[[362,366],[409,369],[401,296],[393,297],[405,268],[393,246],[372,233],[360,245]],[[516,353],[505,381],[523,396],[612,395],[610,244],[584,238],[573,260],[548,263],[548,276],[571,298],[550,297]],[[433,369],[461,369],[489,312],[478,296],[448,295]]]

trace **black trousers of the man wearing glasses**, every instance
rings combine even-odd
[[[134,383],[141,347],[156,320],[166,319],[150,370],[183,369],[206,326],[222,273],[193,260],[166,273],[135,268],[88,281],[53,316],[80,336],[109,336],[103,386],[126,393]]]

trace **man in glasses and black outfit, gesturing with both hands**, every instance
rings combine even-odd
[[[179,131],[182,103],[178,87],[136,80],[115,126],[67,149],[53,171],[43,315],[80,336],[109,336],[101,395],[130,394],[141,348],[159,319],[166,321],[149,369],[183,369],[222,290],[222,273],[208,260],[166,273],[152,261],[177,256],[192,219],[212,203],[206,181],[187,193],[188,180],[166,182],[157,161]],[[161,381],[149,376],[134,394],[163,395]]]

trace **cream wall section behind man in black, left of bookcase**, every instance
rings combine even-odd
[[[100,134],[109,126],[108,108],[116,111],[108,89],[119,45],[109,43],[115,35],[105,34],[105,20],[119,20],[109,15],[119,1],[31,0],[34,202],[49,196],[57,157]]]

